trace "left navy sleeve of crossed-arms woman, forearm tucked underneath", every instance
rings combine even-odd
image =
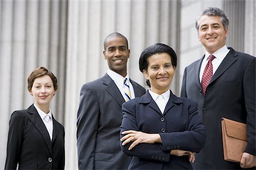
[[[135,104],[130,102],[123,103],[122,105],[123,111],[123,120],[121,125],[121,133],[120,137],[122,138],[122,131],[126,130],[138,130],[137,122],[136,122],[136,109]],[[132,142],[127,143],[125,146],[122,146],[122,142],[120,142],[121,150],[125,152],[125,154],[130,156],[137,156],[139,158],[148,159],[148,160],[158,160],[162,162],[168,162],[170,160],[170,151],[163,151],[160,147],[159,143],[139,143],[132,150],[128,150],[129,146]]]

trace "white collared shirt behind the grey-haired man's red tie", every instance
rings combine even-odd
[[[229,53],[229,49],[226,47],[226,45],[224,45],[224,46],[222,46],[222,48],[218,49],[216,52],[214,52],[212,54],[215,57],[212,61],[212,67],[213,67],[212,74],[214,74],[216,72],[216,70],[218,69],[218,66],[220,66],[221,62],[223,61],[223,59],[226,57],[226,55],[228,53]],[[201,68],[200,68],[200,75],[199,75],[200,82],[202,80],[204,68],[207,65],[209,56],[210,56],[210,54],[207,51],[205,51],[205,56],[201,63]]]

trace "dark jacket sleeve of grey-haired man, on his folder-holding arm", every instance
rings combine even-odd
[[[248,144],[245,152],[255,155],[255,57],[251,59],[243,76],[243,97],[246,109],[246,129]]]

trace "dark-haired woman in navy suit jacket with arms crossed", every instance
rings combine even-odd
[[[192,169],[206,130],[195,101],[170,90],[177,57],[165,44],[146,48],[139,69],[150,89],[122,105],[121,149],[133,156],[128,169]]]

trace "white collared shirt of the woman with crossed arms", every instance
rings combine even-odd
[[[151,95],[152,99],[155,101],[155,103],[158,105],[160,111],[164,113],[164,109],[166,108],[167,102],[170,99],[170,89],[161,95],[152,92],[150,89],[148,89],[148,92]]]

